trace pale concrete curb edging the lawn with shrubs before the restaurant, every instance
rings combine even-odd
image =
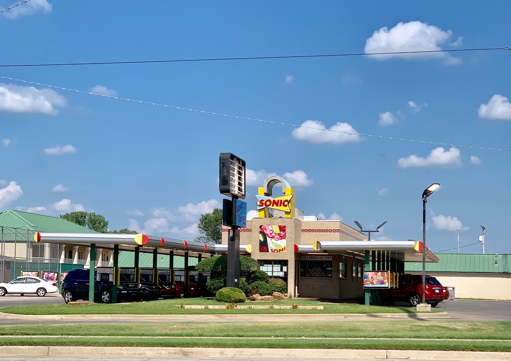
[[[153,320],[153,321],[177,321],[177,320],[233,320],[233,319],[260,319],[269,316],[271,321],[275,319],[286,320],[290,318],[328,319],[331,318],[392,318],[392,319],[441,319],[447,317],[447,312],[436,313],[258,313],[258,314],[16,314],[0,312],[0,318],[11,320]]]

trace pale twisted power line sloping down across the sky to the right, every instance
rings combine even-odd
[[[295,127],[295,128],[306,128],[306,129],[314,129],[314,130],[332,131],[332,132],[336,132],[336,133],[352,134],[352,135],[355,135],[355,136],[372,137],[372,138],[380,138],[380,139],[390,139],[390,140],[396,140],[396,141],[405,141],[405,142],[414,142],[414,143],[425,143],[425,144],[435,144],[435,145],[445,145],[445,146],[450,146],[450,147],[463,147],[463,148],[474,148],[474,149],[485,149],[485,150],[500,150],[500,151],[505,151],[505,152],[511,152],[511,149],[486,148],[486,147],[477,147],[477,146],[470,146],[470,145],[459,145],[459,144],[448,144],[448,143],[417,141],[417,140],[412,140],[412,139],[402,139],[402,138],[375,136],[373,134],[362,134],[362,133],[353,133],[353,132],[349,132],[349,131],[341,131],[341,130],[333,130],[333,129],[322,129],[322,128],[307,127],[307,126],[304,126],[304,125],[296,125],[296,124],[290,124],[290,123],[273,122],[273,121],[270,121],[270,120],[262,120],[262,119],[255,119],[255,118],[239,117],[239,116],[233,116],[233,115],[228,115],[228,114],[215,113],[213,111],[204,111],[204,110],[197,110],[197,109],[190,109],[190,108],[182,108],[182,107],[173,106],[173,105],[151,103],[151,102],[145,102],[145,101],[142,101],[142,100],[134,100],[134,99],[128,99],[128,98],[114,97],[114,96],[111,96],[111,95],[97,94],[97,93],[91,93],[91,92],[83,92],[83,91],[79,91],[79,90],[76,90],[76,89],[69,89],[69,88],[64,88],[64,87],[61,87],[61,86],[41,84],[41,83],[36,83],[36,82],[33,82],[33,81],[14,79],[14,78],[3,77],[3,76],[0,76],[0,78],[1,79],[9,79],[9,80],[13,80],[13,81],[20,81],[20,82],[28,83],[28,84],[47,86],[47,87],[54,88],[54,89],[62,89],[62,90],[69,91],[69,92],[76,92],[76,93],[82,93],[82,94],[96,95],[96,96],[105,97],[105,98],[126,100],[126,101],[130,101],[130,102],[134,102],[134,103],[142,103],[142,104],[148,104],[148,105],[163,106],[163,107],[172,108],[172,109],[189,110],[189,111],[194,111],[194,112],[198,112],[198,113],[202,113],[202,114],[211,114],[211,115],[215,115],[215,116],[222,116],[222,117],[228,117],[228,118],[253,120],[253,121],[257,121],[257,122],[270,123],[270,124],[278,124],[278,125],[287,125],[287,126],[292,126],[292,127]]]

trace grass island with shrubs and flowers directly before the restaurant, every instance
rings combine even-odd
[[[251,302],[242,304],[253,305],[292,305],[317,306],[322,310],[312,309],[190,309],[178,308],[181,302],[188,305],[225,305],[223,302],[206,298],[190,298],[186,300],[171,299],[151,302],[133,302],[130,304],[95,304],[87,306],[69,305],[32,305],[0,308],[1,312],[17,314],[277,314],[277,313],[416,313],[411,307],[364,306],[355,303],[331,304],[324,300],[288,299],[273,302]],[[433,310],[440,312],[440,310]]]

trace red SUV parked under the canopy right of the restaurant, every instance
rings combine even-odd
[[[422,302],[422,276],[420,275],[402,275],[399,276],[399,287],[382,289],[382,301],[387,305],[392,305],[396,301],[408,302],[415,306]],[[426,276],[426,303],[431,307],[436,307],[438,302],[447,299],[445,287],[438,280],[431,276]]]

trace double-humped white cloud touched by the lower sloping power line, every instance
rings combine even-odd
[[[334,143],[360,142],[362,138],[357,131],[348,123],[336,123],[329,130],[323,123],[317,120],[308,120],[301,124],[301,128],[292,131],[294,138],[311,143]]]

